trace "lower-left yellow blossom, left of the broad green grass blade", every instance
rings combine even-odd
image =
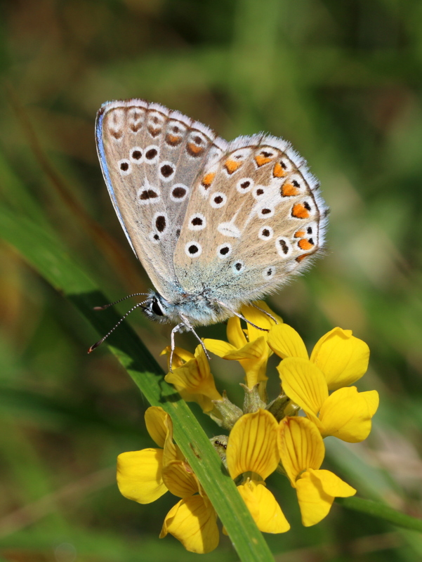
[[[163,449],[124,452],[117,457],[117,484],[122,495],[141,504],[169,490],[181,497],[166,515],[160,538],[170,533],[185,549],[211,552],[220,540],[217,515],[190,466],[173,443],[173,424],[160,407],[145,412],[148,433]]]

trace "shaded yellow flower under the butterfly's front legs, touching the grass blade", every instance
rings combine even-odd
[[[166,374],[164,379],[176,387],[183,400],[197,402],[204,412],[211,412],[214,407],[212,400],[223,400],[223,396],[216,389],[202,346],[197,346],[194,355],[184,349],[176,348],[173,365],[175,365],[175,358],[179,366],[173,369],[172,373]],[[180,359],[186,362],[183,363]]]

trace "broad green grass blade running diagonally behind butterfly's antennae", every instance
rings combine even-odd
[[[117,322],[119,317],[111,309],[100,313],[93,311],[93,306],[107,299],[44,225],[39,226],[0,207],[0,235],[18,249],[55,289],[65,294],[99,334],[107,333]],[[184,400],[164,381],[164,372],[143,342],[123,322],[107,343],[148,402],[163,407],[171,415],[175,440],[211,499],[239,558],[244,562],[274,561],[268,544],[202,427]]]

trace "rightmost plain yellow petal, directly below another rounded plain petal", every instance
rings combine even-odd
[[[360,443],[371,432],[371,417],[378,407],[378,392],[357,392],[356,386],[346,386],[327,398],[319,421],[324,437],[334,436],[348,443]]]

